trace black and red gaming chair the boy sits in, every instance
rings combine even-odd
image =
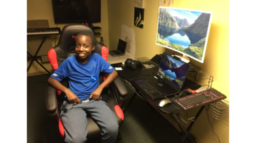
[[[94,35],[94,32],[91,30],[91,28],[85,25],[66,25],[65,27],[63,27],[63,31],[61,32],[61,36],[59,38],[59,43],[48,52],[48,58],[51,63],[51,67],[53,68],[53,71],[55,71],[66,58],[76,55],[76,52],[74,51],[74,38],[76,38],[76,35],[79,32],[83,31],[91,32],[91,34]],[[100,43],[97,43],[93,52],[100,54],[100,56],[102,56],[102,58],[107,61],[107,47],[102,46]],[[106,79],[106,77],[107,74],[100,73],[100,83],[102,83]],[[64,86],[68,87],[68,78],[65,78],[63,81],[61,81],[61,83]],[[109,94],[108,91],[110,91],[111,94]],[[122,120],[124,120],[124,114],[122,113],[121,106],[124,105],[124,102],[126,100],[126,94],[127,89],[122,81],[119,79],[119,77],[117,77],[112,83],[110,83],[110,86],[107,85],[107,87],[105,87],[101,94],[102,100],[104,100],[109,105],[109,108],[113,111],[113,113],[115,113],[119,124],[121,124]],[[59,131],[62,137],[64,137],[64,126],[61,122],[61,119],[59,118],[59,115],[63,100],[64,93],[58,91],[57,89],[55,90],[53,87],[48,85],[48,87],[46,88],[46,108],[49,115],[59,121]],[[87,116],[87,119],[87,140],[94,140],[93,142],[95,142],[96,140],[100,141],[100,128],[94,122],[94,120],[92,120],[91,116]],[[121,139],[120,133],[118,138]]]

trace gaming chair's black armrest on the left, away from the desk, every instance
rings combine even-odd
[[[55,88],[48,85],[46,87],[46,109],[48,113],[53,114],[56,112],[58,107]]]

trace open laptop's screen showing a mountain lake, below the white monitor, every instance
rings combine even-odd
[[[164,52],[158,69],[158,76],[169,80],[181,89],[189,69],[190,65],[188,63],[175,60]]]

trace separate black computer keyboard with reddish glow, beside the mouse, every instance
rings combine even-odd
[[[227,96],[212,88],[201,91],[199,93],[184,96],[179,99],[175,99],[173,100],[173,104],[177,105],[181,109],[188,110],[197,106],[218,102],[219,100],[225,98],[227,98]]]

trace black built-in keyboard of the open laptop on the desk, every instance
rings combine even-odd
[[[154,86],[152,86],[147,80],[141,79],[141,80],[134,80],[134,82],[143,90],[145,93],[147,93],[149,96],[159,96],[162,95],[160,91],[158,91]]]

